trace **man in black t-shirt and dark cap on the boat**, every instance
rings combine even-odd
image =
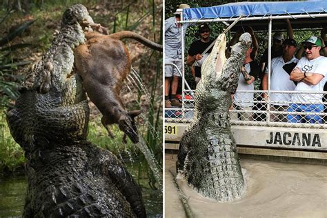
[[[212,48],[204,55],[202,55],[202,52],[204,52],[213,41],[210,39],[210,28],[208,24],[201,23],[199,25],[199,34],[201,39],[192,42],[190,49],[188,49],[188,59],[186,61],[187,66],[192,66],[192,64],[195,63],[195,75],[193,75],[195,77],[195,83],[199,83],[201,79],[201,66],[206,57],[210,54]]]

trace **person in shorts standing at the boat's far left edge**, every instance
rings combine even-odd
[[[188,23],[183,25],[177,23],[181,19],[183,8],[190,8],[190,6],[187,4],[179,5],[174,13],[175,17],[170,17],[165,21],[165,63],[175,63],[179,70],[181,70],[181,28],[184,30],[185,37],[186,28],[190,25]],[[181,75],[179,75],[176,68],[165,66],[165,108],[181,106],[176,98],[179,77]],[[169,97],[170,88],[171,96]]]

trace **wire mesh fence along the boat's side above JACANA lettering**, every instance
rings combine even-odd
[[[165,121],[190,123],[195,116],[194,93],[195,90],[184,90],[181,108],[165,108]],[[230,123],[326,129],[327,92],[237,91],[230,107]]]

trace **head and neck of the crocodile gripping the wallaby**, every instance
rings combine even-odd
[[[63,13],[60,32],[32,68],[7,119],[24,148],[67,144],[87,137],[89,108],[81,78],[74,73],[73,48],[85,43],[80,25],[88,10],[74,5]]]

